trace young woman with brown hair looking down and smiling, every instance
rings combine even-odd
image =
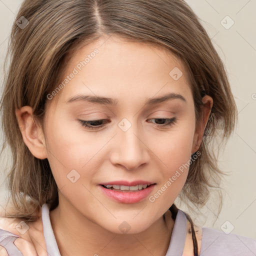
[[[0,255],[255,255],[173,203],[205,204],[223,173],[211,143],[236,121],[183,0],[24,0],[8,50]]]

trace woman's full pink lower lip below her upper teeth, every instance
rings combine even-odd
[[[147,188],[137,190],[137,191],[115,191],[113,189],[108,189],[99,185],[102,191],[110,197],[111,199],[122,202],[122,203],[135,203],[143,200],[148,194],[153,190],[155,184],[148,186]]]

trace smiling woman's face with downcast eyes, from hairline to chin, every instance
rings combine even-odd
[[[111,36],[78,49],[62,81],[58,100],[47,96],[43,141],[59,207],[112,232],[122,232],[120,223],[145,230],[174,202],[197,150],[183,65],[163,49]],[[113,183],[151,186],[102,186]]]

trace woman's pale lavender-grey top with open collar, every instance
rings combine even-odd
[[[60,256],[57,242],[51,227],[49,208],[42,206],[43,235],[48,256]],[[182,256],[187,232],[187,220],[182,210],[178,210],[171,239],[165,256]],[[0,245],[9,256],[22,256],[13,241],[19,237],[0,229]],[[201,250],[199,256],[256,256],[256,241],[236,234],[225,234],[213,228],[202,227]]]

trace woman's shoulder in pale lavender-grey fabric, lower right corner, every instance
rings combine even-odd
[[[256,241],[252,238],[226,234],[209,227],[202,227],[200,256],[255,256]]]

